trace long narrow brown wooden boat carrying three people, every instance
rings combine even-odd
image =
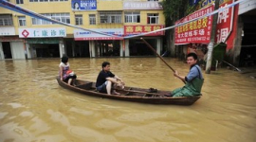
[[[120,93],[120,95],[107,95],[104,93],[100,93],[96,90],[95,82],[87,81],[87,80],[75,80],[74,86],[68,85],[66,82],[60,80],[58,77],[56,78],[59,85],[78,92],[87,96],[99,97],[99,98],[111,98],[125,101],[134,101],[141,103],[151,103],[151,104],[176,104],[176,105],[192,105],[197,99],[201,98],[197,97],[166,97],[165,95],[170,94],[170,91],[160,91],[157,93],[149,93],[148,89],[141,89],[135,87],[125,87],[122,90],[116,90]]]

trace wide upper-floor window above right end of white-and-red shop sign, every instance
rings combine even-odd
[[[121,11],[100,11],[100,23],[121,23]]]

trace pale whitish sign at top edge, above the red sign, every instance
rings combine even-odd
[[[158,2],[123,2],[123,9],[163,9]]]

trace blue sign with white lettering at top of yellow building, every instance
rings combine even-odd
[[[97,10],[97,0],[72,0],[72,10]]]

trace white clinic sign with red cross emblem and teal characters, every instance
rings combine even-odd
[[[51,28],[19,28],[20,38],[48,38],[48,37],[66,37],[64,27]]]

